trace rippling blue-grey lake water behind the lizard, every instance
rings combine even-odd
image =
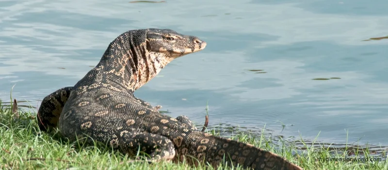
[[[170,115],[388,146],[387,0],[0,0],[0,99],[72,86],[132,29],[207,41],[135,92]],[[255,70],[255,71],[252,71]],[[312,80],[328,79],[329,80]],[[282,123],[286,126],[282,127]]]

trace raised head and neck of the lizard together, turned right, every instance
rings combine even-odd
[[[122,78],[126,88],[134,91],[175,58],[205,47],[206,42],[198,37],[170,29],[129,30],[111,42],[95,69],[110,73],[104,77],[113,82]]]

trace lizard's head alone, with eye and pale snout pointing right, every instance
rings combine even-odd
[[[146,46],[152,53],[162,53],[164,57],[175,59],[205,49],[206,42],[170,29],[148,29]]]

